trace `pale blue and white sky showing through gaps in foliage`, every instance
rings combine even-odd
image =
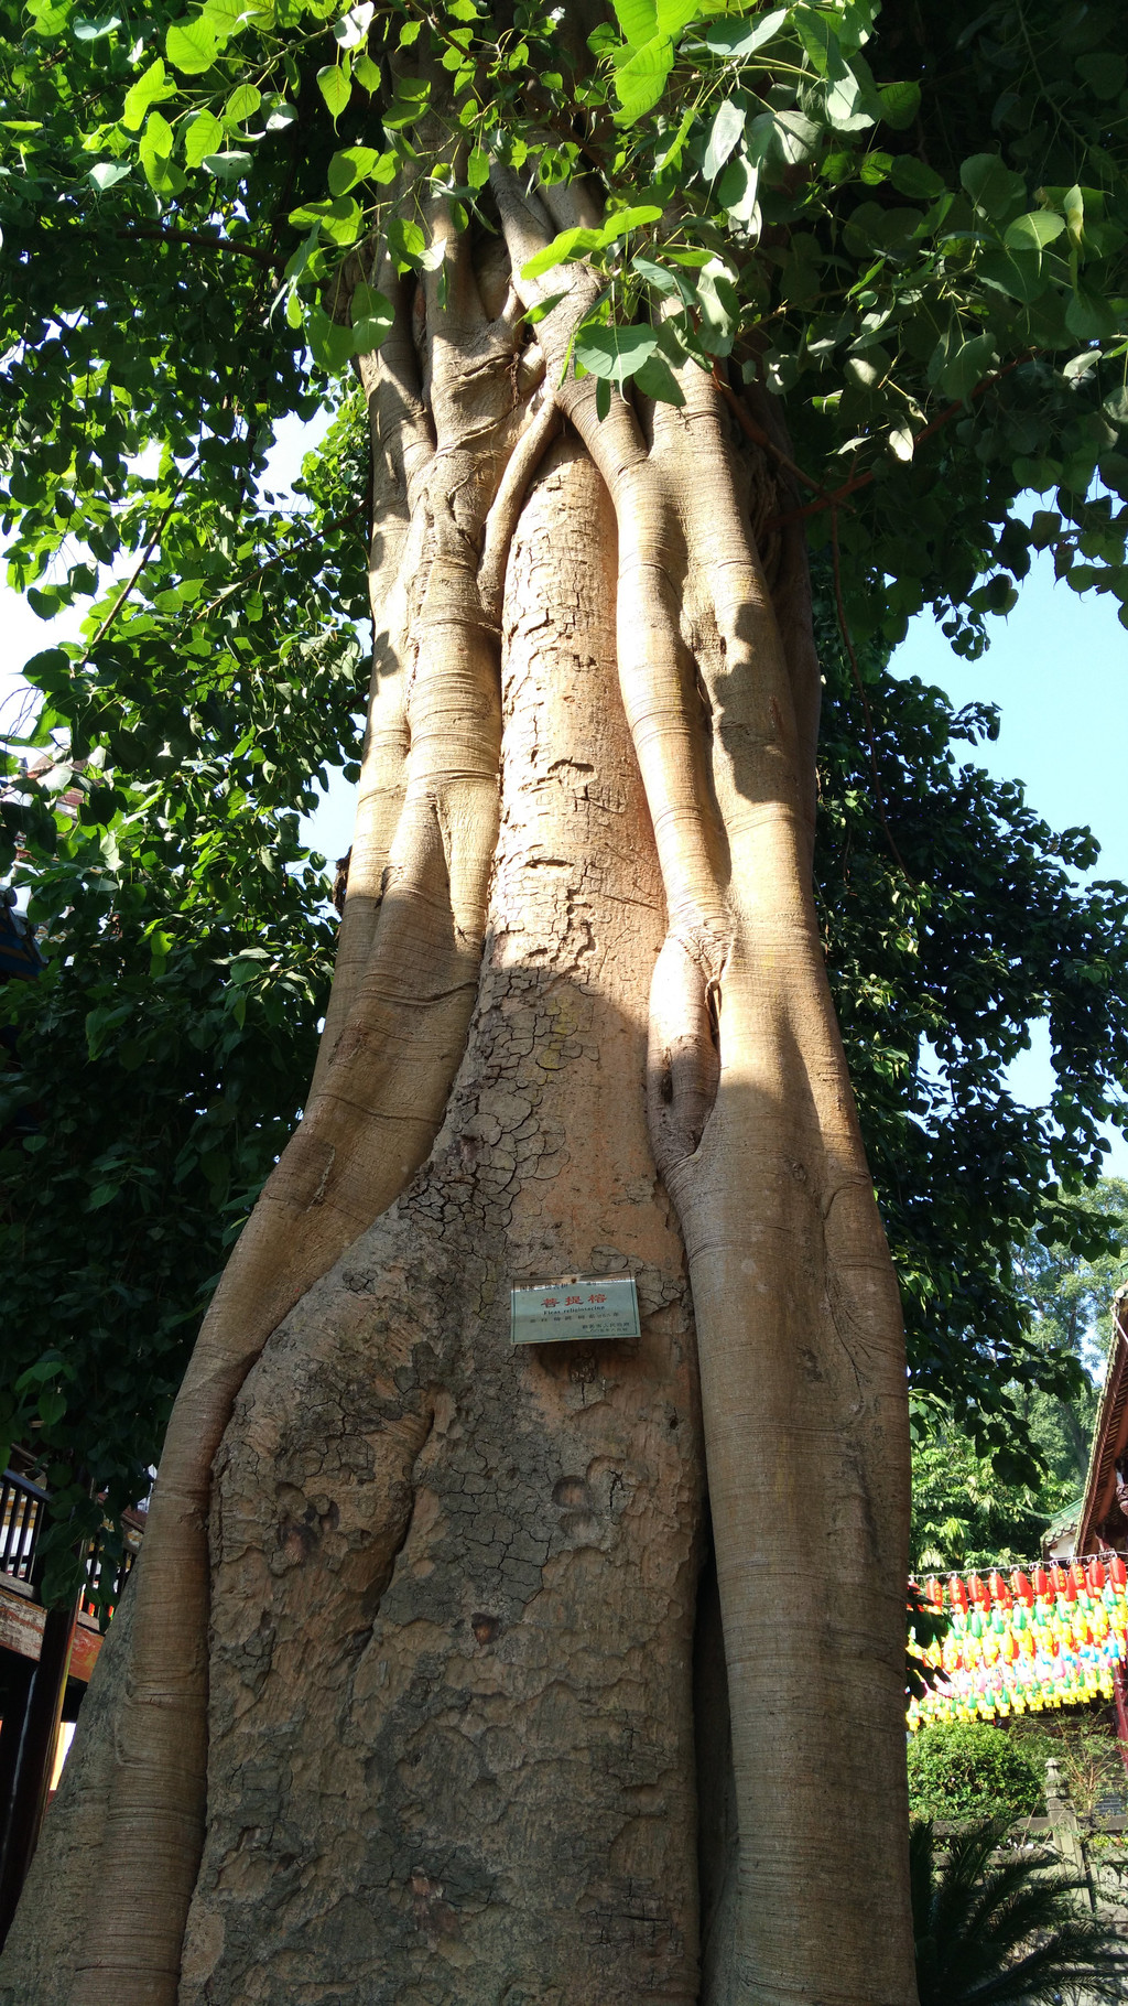
[[[268,485],[280,491],[297,475],[303,451],[321,427],[289,421],[274,447]],[[78,618],[46,626],[26,602],[0,586],[0,718],[12,726],[22,700],[20,668],[56,634],[78,630]],[[1018,606],[1006,620],[990,622],[992,644],[980,662],[962,662],[930,614],[912,622],[894,658],[894,670],[922,676],[948,692],[954,704],[972,698],[996,702],[1002,730],[996,744],[978,746],[974,758],[996,778],[1022,780],[1030,804],[1054,828],[1086,824],[1100,841],[1092,877],[1128,883],[1128,790],[1124,788],[1124,678],[1128,632],[1112,598],[1078,596],[1054,582],[1048,558],[1036,558],[1020,586]],[[972,750],[968,748],[968,756]],[[333,778],[307,841],[329,859],[341,857],[353,832],[353,790]],[[1012,1067],[1016,1095],[1042,1103],[1052,1085],[1044,1027],[1032,1031],[1030,1051]],[[1128,1143],[1108,1131],[1106,1167],[1128,1176]]]

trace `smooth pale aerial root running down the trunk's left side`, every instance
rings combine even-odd
[[[74,2006],[176,1996],[204,1831],[210,1466],[270,1332],[425,1159],[477,993],[501,746],[497,620],[493,604],[483,612],[479,552],[495,594],[557,417],[549,397],[533,413],[519,397],[519,327],[513,313],[487,317],[465,239],[451,237],[449,265],[443,315],[437,275],[429,287],[425,365],[399,287],[387,365],[369,383],[385,487],[411,516],[389,596],[389,676],[377,674],[369,718],[369,798],[393,814],[383,828],[379,814],[363,824],[347,913],[353,899],[367,911],[345,935],[345,1007],[331,1005],[307,1115],[220,1280],[168,1428],[104,1823],[106,1900],[78,1948]]]

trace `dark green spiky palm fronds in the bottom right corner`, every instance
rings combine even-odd
[[[1128,1964],[1116,1938],[1076,1906],[1084,1882],[1048,1874],[1030,1854],[992,1860],[1010,1817],[986,1817],[946,1840],[932,1819],[910,1833],[920,2006],[1056,2006],[1084,1992],[1124,1998]]]

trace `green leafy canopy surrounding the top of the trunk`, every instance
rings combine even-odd
[[[4,999],[8,1426],[114,1507],[156,1452],[325,997],[325,887],[295,812],[319,770],[351,770],[361,700],[365,445],[341,373],[387,333],[385,269],[435,269],[435,215],[489,233],[497,179],[537,175],[587,179],[603,207],[531,259],[531,319],[561,267],[593,265],[573,365],[609,405],[677,399],[669,363],[693,357],[791,483],[781,520],[805,520],[825,949],[912,1364],[980,1448],[1014,1454],[1004,1388],[1066,1390],[1076,1362],[1024,1336],[1012,1250],[1040,1222],[1106,1244],[1062,1194],[1098,1174],[1128,1063],[1128,895],[1078,887],[1086,830],[1054,834],[960,764],[990,710],[952,716],[888,652],[930,606],[976,656],[1032,550],[1128,624],[1120,12],[32,0],[0,18],[10,578],[44,620],[88,608],[80,642],[28,664],[42,704],[8,740],[0,863],[20,859],[50,951]],[[341,415],[295,514],[266,453],[325,401]],[[46,784],[14,772],[32,748],[52,750]],[[66,788],[76,814],[52,806]],[[1048,1111],[1004,1079],[1036,1017]]]

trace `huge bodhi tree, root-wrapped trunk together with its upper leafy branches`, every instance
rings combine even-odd
[[[807,560],[920,919],[864,644],[934,604],[974,656],[1030,546],[1128,596],[1124,28],[8,24],[14,566],[52,612],[142,526],[32,664],[90,826],[196,706],[293,698],[244,524],[307,345],[363,387],[375,648],[305,1115],[0,1996],[910,2002],[906,1354],[811,891]],[[274,764],[244,740],[204,788]],[[615,1272],[637,1344],[511,1348],[513,1282]]]

